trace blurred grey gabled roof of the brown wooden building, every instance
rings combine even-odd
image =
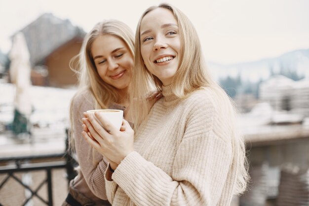
[[[51,13],[42,14],[20,31],[25,35],[32,66],[42,64],[50,53],[66,42],[75,38],[82,40],[85,36],[85,32],[73,26],[70,20],[60,19]]]

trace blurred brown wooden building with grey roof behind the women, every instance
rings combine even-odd
[[[69,62],[81,48],[85,36],[81,28],[45,13],[20,31],[30,52],[34,85],[70,87],[77,83]]]

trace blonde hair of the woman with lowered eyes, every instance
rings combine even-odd
[[[113,35],[124,41],[129,48],[132,56],[134,56],[134,35],[132,30],[124,23],[117,20],[105,20],[97,23],[93,29],[85,36],[79,54],[73,57],[70,61],[70,68],[76,72],[78,77],[78,91],[71,100],[70,120],[70,148],[75,150],[74,135],[73,135],[73,104],[75,97],[84,90],[90,90],[94,99],[94,109],[106,109],[111,103],[120,100],[119,93],[116,88],[104,82],[95,66],[91,47],[93,41],[103,35]]]

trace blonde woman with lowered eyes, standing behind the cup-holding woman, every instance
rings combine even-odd
[[[70,182],[62,206],[109,206],[104,184],[108,162],[82,138],[83,112],[92,109],[121,109],[128,105],[128,85],[132,79],[134,35],[117,20],[96,24],[85,36],[79,55],[79,89],[71,102],[71,147],[78,159],[78,174]]]

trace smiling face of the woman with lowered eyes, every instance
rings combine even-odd
[[[133,56],[126,43],[113,35],[97,37],[91,54],[101,79],[116,87],[126,88],[131,82]]]

